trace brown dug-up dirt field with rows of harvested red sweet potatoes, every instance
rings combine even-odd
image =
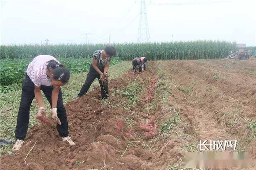
[[[140,75],[112,79],[107,101],[97,87],[66,104],[76,146],[41,123],[20,151],[1,157],[1,169],[182,169],[199,140],[236,139],[255,159],[255,69],[256,60],[150,61]]]

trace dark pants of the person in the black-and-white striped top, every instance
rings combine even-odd
[[[104,67],[103,68],[99,68],[101,70],[101,72],[104,72]],[[78,97],[81,97],[83,95],[85,95],[87,93],[87,91],[89,90],[92,82],[98,78],[98,82],[100,83],[100,87],[101,87],[101,98],[103,99],[107,99],[108,98],[108,82],[106,80],[106,82],[103,83],[102,80],[99,80],[100,74],[92,67],[90,67],[89,73],[87,74],[86,80],[84,85],[81,87],[81,90],[78,94]]]

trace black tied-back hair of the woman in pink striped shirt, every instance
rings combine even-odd
[[[47,61],[47,69],[53,69],[53,79],[67,83],[70,78],[70,72],[64,65],[59,64],[56,60]]]

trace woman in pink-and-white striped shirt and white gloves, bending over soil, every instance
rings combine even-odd
[[[26,77],[22,83],[21,102],[16,125],[16,143],[12,151],[18,151],[27,135],[30,117],[30,106],[36,97],[38,112],[36,118],[46,120],[46,109],[43,103],[41,90],[51,106],[51,118],[57,123],[57,130],[63,141],[69,145],[75,143],[68,136],[68,120],[62,101],[60,86],[65,85],[70,78],[68,68],[61,65],[56,58],[49,55],[39,55],[28,65]]]

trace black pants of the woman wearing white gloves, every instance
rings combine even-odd
[[[41,85],[41,90],[52,106],[52,90],[53,86]],[[18,111],[17,125],[15,136],[19,140],[24,140],[27,135],[28,123],[30,117],[30,106],[34,99],[34,83],[30,80],[30,77],[26,75],[22,84],[21,102]],[[57,102],[57,115],[60,119],[61,125],[57,124],[57,130],[62,137],[68,136],[68,120],[66,117],[66,109],[62,101],[62,91],[59,90],[58,102]]]

